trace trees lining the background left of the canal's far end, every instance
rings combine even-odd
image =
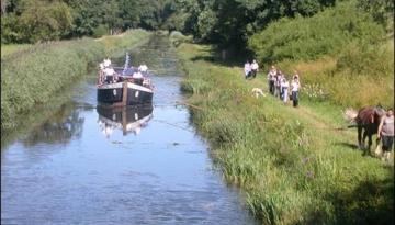
[[[176,10],[171,0],[8,0],[2,8],[3,44],[158,30]]]

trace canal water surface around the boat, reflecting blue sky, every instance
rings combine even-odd
[[[129,54],[154,70],[154,108],[98,110],[92,71],[53,117],[2,147],[1,224],[257,224],[176,103],[182,75],[168,38]]]

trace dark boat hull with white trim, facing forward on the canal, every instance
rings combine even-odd
[[[117,82],[98,87],[98,101],[110,105],[138,105],[153,102],[153,90],[133,83]]]

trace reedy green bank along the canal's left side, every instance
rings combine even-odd
[[[150,33],[129,31],[101,40],[82,38],[29,46],[1,57],[1,130],[19,126],[21,114],[34,111],[87,74],[105,56],[148,40]]]

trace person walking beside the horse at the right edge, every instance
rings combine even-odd
[[[385,115],[381,119],[377,138],[382,139],[383,160],[390,159],[392,145],[394,142],[394,112],[390,109]]]

